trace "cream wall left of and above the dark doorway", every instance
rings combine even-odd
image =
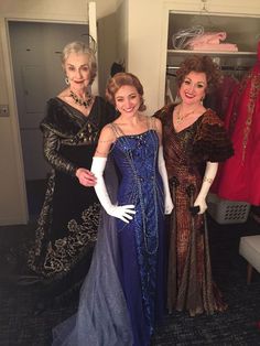
[[[21,139],[12,87],[12,67],[7,20],[64,21],[86,23],[86,0],[0,1],[0,105],[9,105],[10,116],[0,118],[0,225],[28,221]],[[97,18],[116,11],[117,0],[97,0]]]

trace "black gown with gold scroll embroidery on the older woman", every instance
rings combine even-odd
[[[55,97],[41,122],[52,172],[28,264],[43,280],[67,277],[63,290],[86,274],[84,259],[91,256],[100,210],[94,187],[83,186],[75,173],[78,167],[90,169],[100,130],[111,119],[115,109],[101,97],[95,98],[87,117]]]

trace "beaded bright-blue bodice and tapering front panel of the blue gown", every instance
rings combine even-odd
[[[145,320],[153,333],[156,263],[164,210],[163,185],[158,170],[159,138],[155,130],[119,136],[112,156],[119,171],[118,205],[133,204],[133,220],[118,223],[118,231],[134,233]]]

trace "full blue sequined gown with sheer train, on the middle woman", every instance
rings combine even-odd
[[[163,314],[164,194],[158,134],[149,129],[124,136],[111,126],[117,141],[106,185],[113,202],[116,197],[118,205],[133,204],[137,213],[129,224],[102,213],[78,312],[54,329],[55,346],[149,346]],[[111,195],[115,176],[117,196]]]

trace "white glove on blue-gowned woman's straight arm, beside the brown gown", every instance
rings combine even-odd
[[[173,202],[171,197],[171,192],[169,187],[169,181],[167,181],[167,171],[165,166],[165,161],[163,158],[163,147],[159,147],[159,154],[158,154],[158,167],[159,172],[162,176],[163,181],[163,191],[164,191],[164,214],[171,214],[173,209]]]

